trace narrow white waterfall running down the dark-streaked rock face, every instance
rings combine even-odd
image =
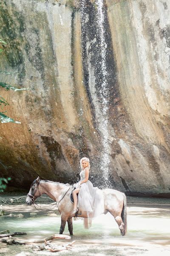
[[[96,1],[96,11],[95,12],[95,26],[96,26],[96,35],[93,35],[94,38],[88,38],[87,35],[87,23],[88,23],[88,15],[94,15],[94,13],[88,13],[88,4],[89,1],[82,0],[81,2],[81,21],[82,21],[82,40],[84,40],[84,44],[86,44],[86,54],[87,54],[87,62],[88,62],[88,83],[90,83],[91,86],[91,95],[94,95],[94,92],[96,91],[95,88],[97,88],[98,95],[96,95],[96,98],[98,97],[98,100],[92,99],[94,102],[95,107],[95,117],[96,117],[96,124],[97,124],[97,130],[99,131],[99,134],[101,136],[101,147],[100,147],[100,166],[99,169],[101,171],[102,175],[102,184],[103,188],[108,187],[109,184],[109,129],[108,129],[108,96],[109,96],[109,90],[108,90],[108,72],[107,72],[107,65],[106,65],[106,57],[107,57],[107,44],[105,42],[105,16],[104,16],[104,5],[103,0],[97,0]],[[97,42],[95,39],[97,38]],[[99,58],[95,60],[95,64],[91,63],[91,56],[93,55],[93,52],[89,53],[89,49],[91,44],[96,42],[96,48],[98,49],[98,55]],[[85,64],[85,59],[83,57],[83,63]],[[99,70],[96,71],[96,68],[99,67]],[[92,71],[94,70],[94,71]],[[96,77],[97,83],[96,83],[96,77],[94,75],[96,71]],[[91,74],[93,73],[93,77],[91,78]],[[94,84],[94,85],[93,85]],[[94,88],[95,87],[95,88]],[[95,94],[97,94],[95,92]],[[92,98],[94,96],[91,96]],[[100,101],[100,104],[98,103]]]

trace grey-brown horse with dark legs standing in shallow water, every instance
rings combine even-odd
[[[59,213],[61,214],[61,226],[59,234],[62,234],[65,229],[65,224],[68,222],[68,230],[70,235],[73,235],[72,217],[70,217],[73,211],[73,203],[70,200],[70,195],[73,190],[73,186],[64,183],[54,182],[50,180],[40,180],[37,177],[31,184],[28,192],[26,203],[28,205],[34,204],[34,201],[42,194],[48,195],[51,199],[56,201]],[[102,189],[104,197],[104,214],[110,212],[115,218],[116,223],[119,226],[119,230],[122,236],[127,233],[127,202],[126,195],[115,189]],[[81,211],[82,218],[88,218],[87,213]]]

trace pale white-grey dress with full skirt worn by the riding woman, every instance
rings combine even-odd
[[[85,179],[85,169],[80,172],[80,181]],[[91,226],[92,218],[104,212],[104,198],[102,191],[97,187],[94,187],[90,180],[81,184],[78,194],[77,208],[87,212],[88,224],[84,219],[85,228]]]

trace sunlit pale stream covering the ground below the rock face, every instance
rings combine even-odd
[[[0,218],[0,230],[10,232],[26,232],[27,236],[20,238],[44,238],[59,233],[60,215],[57,209],[51,209],[51,204],[40,204],[40,211],[26,204],[5,205],[6,215]],[[37,215],[30,216],[30,212]],[[57,212],[57,215],[56,213]],[[111,214],[95,218],[89,230],[83,228],[81,218],[74,218],[75,247],[68,251],[58,253],[36,252],[37,255],[170,255],[170,204],[164,203],[130,203],[127,207],[127,235],[120,236],[119,228]],[[22,213],[23,218],[8,217],[13,213]],[[69,235],[66,224],[65,235]],[[54,243],[64,244],[64,240],[55,240]],[[33,255],[31,247],[24,245],[7,246],[0,243],[0,255],[16,255],[25,251],[25,255]],[[15,249],[13,251],[13,249]],[[73,253],[73,254],[72,254]],[[92,254],[91,254],[92,253]]]

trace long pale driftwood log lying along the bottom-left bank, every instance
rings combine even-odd
[[[16,233],[19,233],[19,232],[16,232]],[[25,233],[26,234],[26,233]],[[11,234],[8,234],[8,236],[10,236]],[[56,238],[59,238],[59,239],[71,239],[70,236],[67,236],[67,235],[58,235],[58,234],[55,234],[53,236],[48,236],[48,237],[45,237],[43,239],[26,239],[26,240],[17,240],[17,239],[1,239],[1,241],[3,243],[7,243],[7,244],[33,244],[33,243],[44,243],[45,241],[48,241],[48,240],[53,240],[53,239],[56,239]]]

